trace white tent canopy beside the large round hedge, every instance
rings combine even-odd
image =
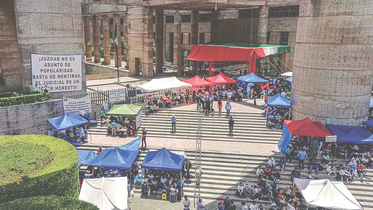
[[[128,210],[127,177],[84,179],[79,200],[100,210]]]

